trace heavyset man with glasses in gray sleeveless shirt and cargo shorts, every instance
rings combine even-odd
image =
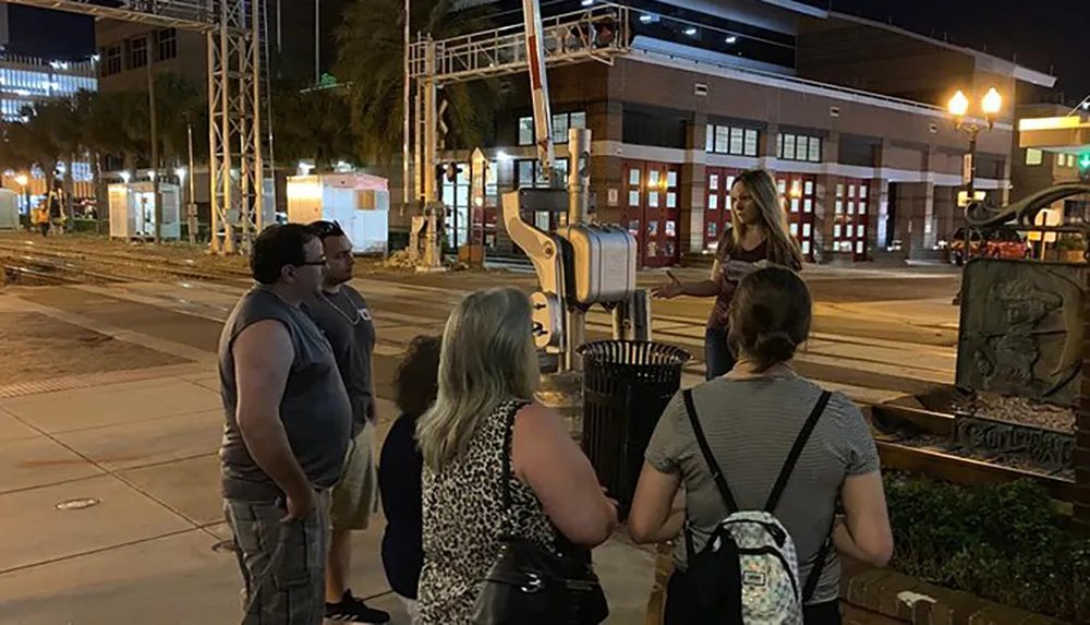
[[[257,286],[219,340],[227,424],[225,516],[245,582],[244,625],[322,625],[329,489],[352,408],[329,342],[300,310],[326,265],[313,229],[274,226],[254,242]]]

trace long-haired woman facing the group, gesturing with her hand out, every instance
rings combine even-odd
[[[743,171],[730,188],[730,228],[723,231],[715,251],[712,275],[699,283],[682,283],[667,272],[669,281],[654,296],[715,299],[704,330],[704,365],[707,380],[734,369],[735,356],[727,345],[727,310],[738,283],[767,264],[794,271],[802,268],[802,252],[787,227],[787,215],[776,180],[764,169]]]

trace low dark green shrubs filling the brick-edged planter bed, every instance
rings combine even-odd
[[[886,497],[894,569],[1065,621],[1090,602],[1090,540],[1071,533],[1036,483],[893,476]]]

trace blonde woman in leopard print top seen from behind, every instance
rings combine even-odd
[[[472,293],[447,320],[438,396],[416,425],[422,623],[469,622],[501,536],[555,549],[560,532],[595,546],[616,528],[615,505],[567,424],[533,402],[540,372],[532,325],[530,300],[511,288]]]

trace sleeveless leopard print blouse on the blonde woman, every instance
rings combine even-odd
[[[423,474],[424,568],[417,591],[421,623],[470,623],[485,575],[499,556],[499,538],[513,534],[543,549],[556,546],[556,529],[530,486],[509,479],[511,509],[504,505],[505,442],[516,412],[529,401],[500,404],[470,442],[468,453],[441,473]]]

